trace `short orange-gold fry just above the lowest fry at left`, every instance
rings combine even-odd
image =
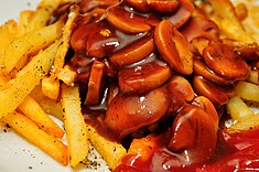
[[[18,109],[32,119],[46,133],[56,138],[63,138],[64,130],[43,111],[41,106],[31,96],[26,96]]]

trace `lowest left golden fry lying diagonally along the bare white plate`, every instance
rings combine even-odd
[[[67,146],[39,129],[28,117],[12,112],[3,117],[2,120],[63,165],[68,163]]]

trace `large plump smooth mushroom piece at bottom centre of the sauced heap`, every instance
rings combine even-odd
[[[119,94],[110,103],[105,125],[122,139],[143,126],[158,121],[169,106],[165,87],[151,90],[142,96]]]

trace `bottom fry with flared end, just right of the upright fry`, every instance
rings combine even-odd
[[[117,142],[109,141],[97,133],[97,131],[87,125],[87,133],[95,149],[100,153],[108,166],[114,170],[127,153],[126,149]]]

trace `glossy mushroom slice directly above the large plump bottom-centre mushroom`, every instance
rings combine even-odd
[[[121,93],[142,94],[161,86],[171,77],[171,69],[164,63],[153,61],[143,65],[119,71]]]

